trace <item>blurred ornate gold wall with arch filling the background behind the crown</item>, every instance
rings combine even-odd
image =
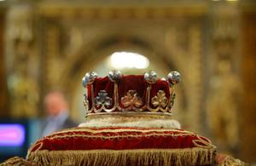
[[[82,123],[82,77],[107,76],[109,55],[122,51],[150,64],[125,75],[180,72],[173,119],[256,163],[255,1],[2,0],[0,117],[44,117],[44,94],[61,89]]]

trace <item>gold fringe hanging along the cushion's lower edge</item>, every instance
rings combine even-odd
[[[38,165],[212,165],[215,149],[135,149],[30,152],[26,160]]]

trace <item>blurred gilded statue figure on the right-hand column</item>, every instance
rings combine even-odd
[[[239,144],[237,122],[241,103],[241,82],[239,77],[230,71],[229,60],[219,60],[218,66],[218,73],[210,79],[207,119],[212,140],[219,146],[228,145],[228,148],[235,148]]]

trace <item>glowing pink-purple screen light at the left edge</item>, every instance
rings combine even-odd
[[[25,128],[21,124],[0,124],[0,146],[22,146]]]

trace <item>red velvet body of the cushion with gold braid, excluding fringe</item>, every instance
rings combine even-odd
[[[106,129],[108,131],[106,131]],[[86,130],[86,131],[85,131]],[[126,130],[126,131],[125,131]],[[131,131],[133,130],[133,131]],[[93,133],[99,131],[99,133]],[[145,131],[145,132],[143,132]],[[132,136],[126,136],[132,135]],[[97,137],[100,136],[100,137]],[[111,136],[119,136],[111,138]],[[125,137],[123,137],[125,136]],[[126,150],[126,149],[177,149],[196,147],[193,140],[199,140],[201,146],[206,146],[201,140],[207,141],[204,137],[182,129],[147,129],[147,128],[73,128],[56,132],[53,135],[36,141],[30,151],[49,150]],[[39,148],[39,149],[38,149]]]

